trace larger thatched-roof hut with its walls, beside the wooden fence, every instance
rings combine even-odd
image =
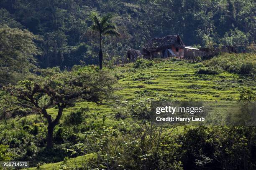
[[[155,57],[184,57],[184,43],[179,35],[167,35],[161,38],[152,38],[142,48],[143,56],[147,59]]]

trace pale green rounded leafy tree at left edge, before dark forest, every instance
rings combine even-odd
[[[28,30],[0,28],[0,83],[16,83],[35,68],[36,38]]]

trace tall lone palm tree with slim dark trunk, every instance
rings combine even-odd
[[[95,30],[99,33],[100,38],[100,52],[99,52],[99,65],[100,69],[102,69],[102,36],[103,35],[120,35],[116,30],[115,24],[110,23],[111,18],[113,17],[110,14],[103,16],[102,18],[98,16],[96,13],[91,15],[92,17],[92,30]]]

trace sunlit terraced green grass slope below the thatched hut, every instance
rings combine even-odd
[[[255,81],[248,81],[237,74],[223,72],[220,75],[200,75],[195,72],[200,63],[164,60],[154,66],[125,72],[119,83],[122,90],[116,93],[125,99],[132,99],[144,92],[148,97],[158,94],[180,100],[238,100],[244,87],[255,87]],[[129,67],[127,65],[126,67]],[[122,73],[120,70],[119,74]],[[133,77],[151,75],[148,80],[134,80]]]

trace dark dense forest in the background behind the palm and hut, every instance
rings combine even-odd
[[[129,48],[140,50],[153,37],[180,35],[185,45],[197,47],[250,44],[256,38],[253,0],[1,0],[0,4],[1,37],[28,30],[37,50],[27,50],[34,53],[33,66],[41,68],[97,65],[99,38],[90,29],[93,12],[112,14],[120,32],[103,38],[105,64],[121,63]],[[33,70],[26,63],[32,59],[1,60],[0,74],[5,75],[6,67],[14,73]],[[16,71],[17,62],[26,68]]]

